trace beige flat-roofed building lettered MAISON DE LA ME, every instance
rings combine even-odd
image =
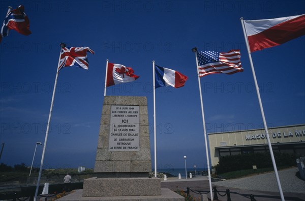
[[[305,156],[305,124],[268,128],[272,150]],[[264,129],[208,134],[211,165],[227,155],[269,152]]]

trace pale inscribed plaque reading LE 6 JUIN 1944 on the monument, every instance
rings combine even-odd
[[[111,105],[109,151],[139,151],[139,106]]]

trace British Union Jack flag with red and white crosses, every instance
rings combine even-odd
[[[69,66],[88,70],[87,52],[94,54],[94,51],[89,47],[63,47],[60,54],[58,71]]]

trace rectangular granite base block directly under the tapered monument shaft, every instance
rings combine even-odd
[[[159,178],[89,178],[84,180],[83,196],[161,195]]]

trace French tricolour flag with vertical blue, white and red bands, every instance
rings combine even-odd
[[[172,69],[163,68],[155,65],[155,88],[167,87],[168,85],[174,88],[183,87],[188,80],[184,74]]]

